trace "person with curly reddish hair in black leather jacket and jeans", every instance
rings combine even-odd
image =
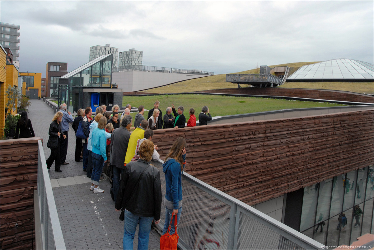
[[[158,224],[161,219],[160,171],[150,165],[153,150],[153,142],[145,140],[139,147],[140,159],[127,163],[121,180],[115,208],[125,210],[123,249],[133,249],[138,223],[138,249],[148,249],[152,221]]]

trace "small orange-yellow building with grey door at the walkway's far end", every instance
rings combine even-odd
[[[22,94],[30,99],[38,99],[42,92],[42,73],[20,72],[22,76]]]

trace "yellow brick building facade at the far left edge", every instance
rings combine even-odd
[[[18,68],[12,64],[6,62],[6,51],[1,46],[0,49],[0,137],[4,135],[4,126],[5,126],[5,108],[7,103],[6,90],[9,86],[18,87]],[[17,106],[17,105],[16,105]],[[17,114],[17,107],[12,108],[7,111],[10,114]]]

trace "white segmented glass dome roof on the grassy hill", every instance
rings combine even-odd
[[[373,81],[373,64],[352,59],[334,59],[305,65],[287,78],[287,80],[342,79]]]

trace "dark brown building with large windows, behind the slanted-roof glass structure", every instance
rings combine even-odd
[[[68,63],[47,63],[45,96],[58,97],[58,79],[68,73]]]

